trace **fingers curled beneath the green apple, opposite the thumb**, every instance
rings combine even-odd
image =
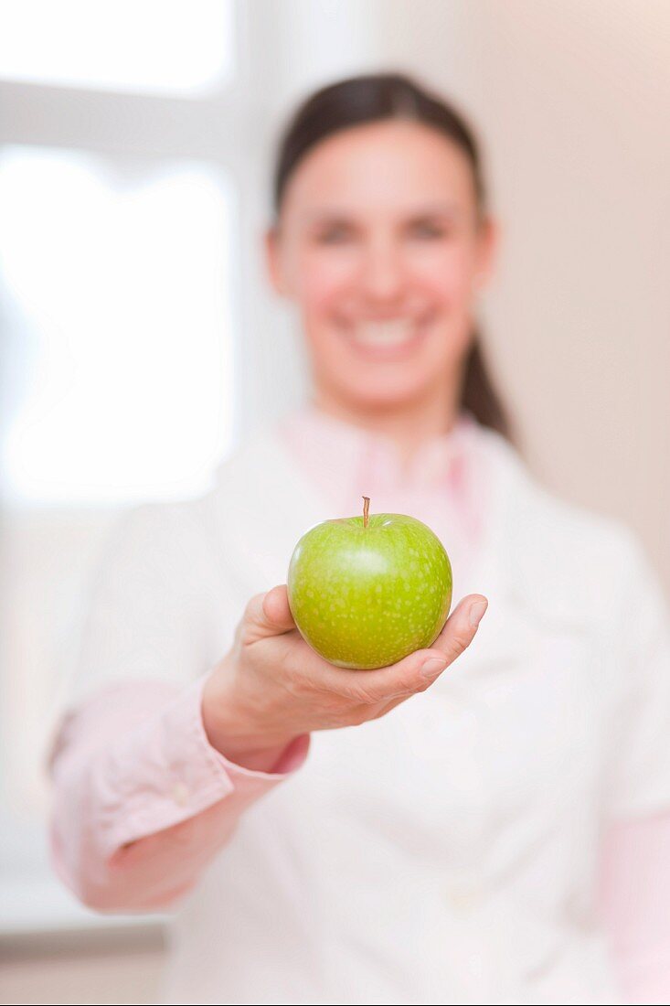
[[[454,609],[430,649],[416,650],[404,660],[374,671],[340,670],[340,683],[368,702],[425,691],[470,646],[487,606],[481,594],[469,595]]]

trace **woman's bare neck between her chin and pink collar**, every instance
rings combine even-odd
[[[458,420],[458,401],[447,382],[433,393],[401,404],[361,404],[317,386],[312,404],[328,415],[393,441],[403,465],[427,440],[450,433]]]

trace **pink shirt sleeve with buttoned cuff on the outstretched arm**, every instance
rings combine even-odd
[[[202,682],[119,686],[61,729],[52,759],[51,846],[63,881],[101,910],[155,909],[188,890],[244,809],[304,761],[309,737],[273,773],[208,742]]]

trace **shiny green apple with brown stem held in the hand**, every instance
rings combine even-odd
[[[296,625],[338,667],[386,667],[431,644],[452,603],[452,566],[438,536],[400,513],[315,524],[296,545],[287,586]]]

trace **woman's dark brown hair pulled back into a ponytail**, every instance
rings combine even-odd
[[[279,215],[289,178],[305,155],[334,133],[384,119],[405,119],[438,130],[467,156],[472,169],[480,217],[486,189],[479,146],[472,129],[442,98],[399,73],[372,73],[339,80],[311,95],[297,110],[282,137],[274,179],[275,212]],[[507,412],[489,376],[475,332],[465,361],[461,408],[511,440]]]

